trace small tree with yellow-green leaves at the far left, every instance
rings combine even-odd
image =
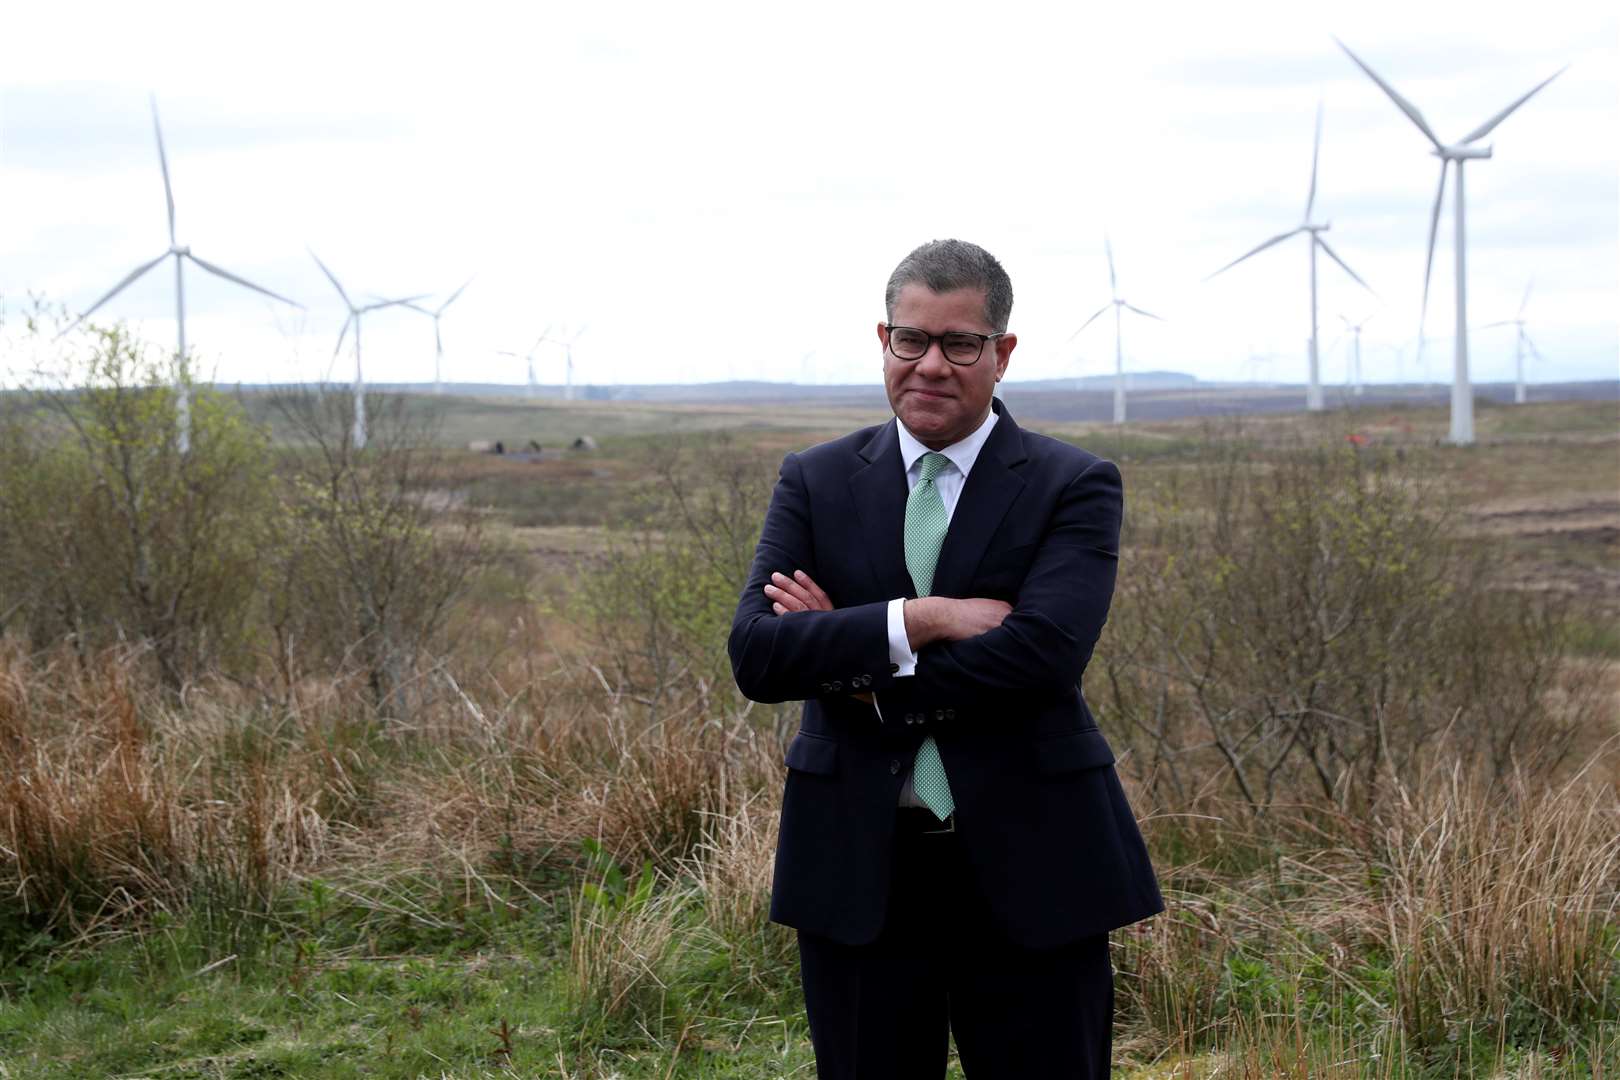
[[[92,329],[71,389],[0,419],[0,615],[37,643],[134,640],[170,690],[241,654],[267,507],[266,439],[193,390],[190,453],[172,385],[123,327]]]

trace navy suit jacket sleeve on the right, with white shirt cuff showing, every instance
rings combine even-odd
[[[894,680],[885,708],[1076,687],[1108,620],[1123,510],[1118,466],[1094,461],[1058,497],[1013,612],[977,638],[923,648],[915,677]]]

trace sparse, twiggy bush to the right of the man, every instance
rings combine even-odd
[[[1432,476],[1413,453],[1226,439],[1136,494],[1092,696],[1145,787],[1375,805],[1445,732],[1497,776],[1568,755],[1597,696],[1562,662],[1567,623],[1489,588]]]

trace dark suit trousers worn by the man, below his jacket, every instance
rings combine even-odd
[[[970,1080],[1105,1080],[1108,934],[1022,949],[995,929],[954,832],[901,810],[883,931],[846,946],[800,931],[820,1080],[940,1080],[949,1038]],[[1061,897],[1051,897],[1061,904]]]

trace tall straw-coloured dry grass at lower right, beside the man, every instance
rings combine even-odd
[[[1123,1015],[1192,1046],[1243,1044],[1256,1017],[1338,1017],[1390,1048],[1583,1043],[1620,993],[1612,759],[1560,785],[1434,767],[1371,821],[1200,816],[1160,861],[1170,910],[1115,934]]]

